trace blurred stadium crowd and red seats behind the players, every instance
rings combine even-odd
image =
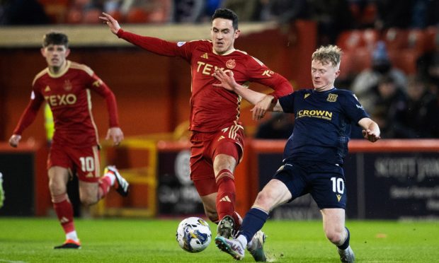
[[[383,138],[439,138],[439,0],[2,0],[0,25],[93,24],[103,11],[123,23],[203,23],[218,7],[280,28],[316,21],[317,45],[343,49],[336,86],[358,95]]]

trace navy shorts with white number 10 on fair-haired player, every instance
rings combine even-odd
[[[339,165],[284,163],[273,178],[283,182],[290,190],[290,201],[309,193],[319,209],[346,209],[345,176]]]

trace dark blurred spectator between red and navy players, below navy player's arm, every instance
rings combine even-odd
[[[256,139],[288,139],[294,128],[294,117],[283,112],[273,112],[270,119],[256,130]]]

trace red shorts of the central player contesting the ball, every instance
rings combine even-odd
[[[193,132],[190,142],[190,179],[200,196],[217,192],[213,160],[222,153],[236,158],[244,154],[244,128],[234,124],[215,133]]]

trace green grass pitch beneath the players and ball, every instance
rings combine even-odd
[[[55,218],[0,218],[1,262],[234,262],[211,242],[191,254],[178,247],[179,220],[76,219],[81,250],[53,250],[64,241]],[[348,221],[357,262],[438,262],[439,223]],[[211,224],[215,236],[216,227]],[[268,221],[271,262],[339,262],[321,221]],[[249,253],[243,262],[253,262]]]

